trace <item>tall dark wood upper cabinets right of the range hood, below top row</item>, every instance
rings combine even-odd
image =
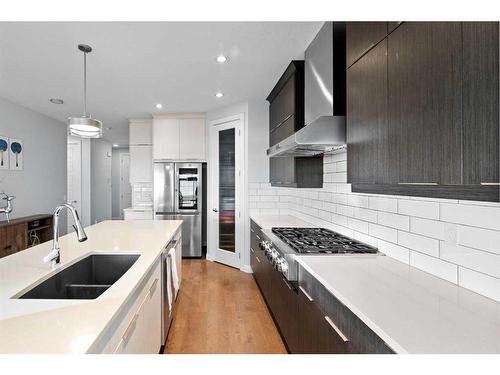
[[[498,202],[498,22],[388,32],[347,71],[352,191]]]

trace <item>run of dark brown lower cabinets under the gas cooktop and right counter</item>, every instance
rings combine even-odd
[[[393,351],[318,280],[299,268],[292,285],[258,246],[261,228],[251,221],[253,275],[290,353],[384,354]]]

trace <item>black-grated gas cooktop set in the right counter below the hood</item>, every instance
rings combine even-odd
[[[300,254],[366,254],[378,250],[324,228],[272,228],[272,232]]]

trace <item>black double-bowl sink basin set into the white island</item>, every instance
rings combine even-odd
[[[30,289],[20,299],[95,299],[139,258],[137,254],[91,254]]]

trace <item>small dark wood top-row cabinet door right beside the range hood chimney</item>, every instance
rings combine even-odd
[[[387,22],[348,22],[346,27],[347,66],[387,36]]]

